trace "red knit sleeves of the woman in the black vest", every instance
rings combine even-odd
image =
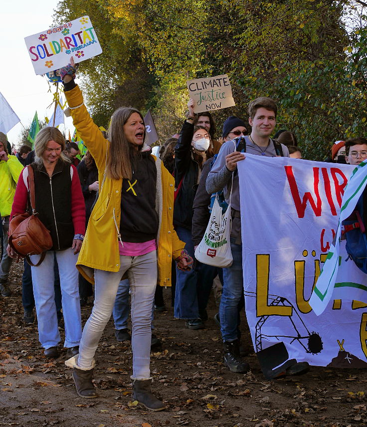
[[[74,165],[73,177],[71,180],[71,217],[74,225],[75,234],[85,234],[85,205],[82,189],[80,186],[78,172]],[[24,214],[27,209],[28,201],[28,188],[24,184],[23,172],[26,167],[21,171],[19,180],[16,186],[13,204],[11,206],[10,218],[16,214]],[[27,185],[29,187],[29,180],[27,177]]]

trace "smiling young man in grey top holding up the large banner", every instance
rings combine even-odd
[[[251,134],[245,136],[246,152],[259,156],[289,157],[289,152],[283,144],[274,144],[270,138],[276,124],[277,105],[271,98],[260,97],[251,101],[248,107],[248,122],[252,127]],[[236,151],[233,139],[241,134],[237,130],[236,117],[228,117],[223,126],[223,139],[218,157],[206,180],[206,191],[216,193],[224,189],[226,202],[229,202],[232,174],[233,190],[231,198],[231,251],[233,263],[223,268],[223,294],[220,301],[219,317],[220,331],[224,344],[224,362],[231,372],[244,373],[249,365],[242,362],[239,354],[239,340],[237,334],[237,306],[243,295],[242,274],[242,241],[240,220],[240,194],[237,174],[237,162],[245,159],[245,154]],[[233,124],[233,126],[231,126]],[[233,129],[232,129],[233,128]],[[269,183],[264,183],[269,185]],[[295,375],[307,372],[307,362],[297,363],[287,369],[286,374]]]

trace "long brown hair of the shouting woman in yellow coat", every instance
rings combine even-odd
[[[132,161],[136,157],[136,151],[125,136],[124,125],[133,113],[138,113],[144,123],[142,113],[132,107],[120,107],[111,117],[111,124],[108,129],[110,149],[107,161],[107,176],[114,180],[121,178],[131,180],[132,178]],[[140,151],[142,148],[143,146],[139,146],[138,150]]]

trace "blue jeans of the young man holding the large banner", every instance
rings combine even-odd
[[[233,263],[223,268],[223,292],[219,305],[220,332],[223,342],[238,338],[238,304],[243,295],[242,244],[231,242]]]

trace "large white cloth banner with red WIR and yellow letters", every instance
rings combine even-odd
[[[309,304],[353,170],[250,154],[238,163],[246,316],[267,377],[294,361],[367,367],[367,304],[330,301],[321,316]]]

